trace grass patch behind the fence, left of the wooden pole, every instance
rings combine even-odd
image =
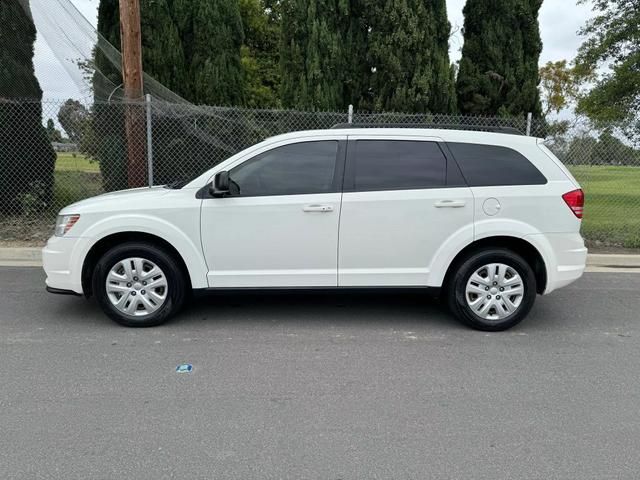
[[[58,153],[54,177],[57,208],[103,192],[100,166],[80,154]]]

